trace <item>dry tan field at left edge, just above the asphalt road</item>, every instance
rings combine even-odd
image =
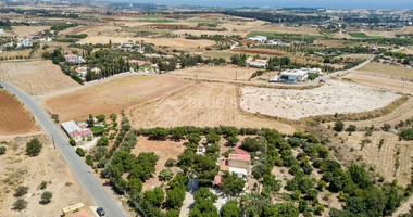
[[[32,95],[43,95],[80,86],[51,61],[0,63],[0,78]]]

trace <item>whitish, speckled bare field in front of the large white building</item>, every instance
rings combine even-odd
[[[400,98],[392,92],[351,82],[329,80],[310,90],[243,87],[240,107],[288,119],[335,113],[361,113],[380,108]]]

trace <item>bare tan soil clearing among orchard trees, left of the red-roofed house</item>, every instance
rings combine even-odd
[[[140,152],[154,152],[159,156],[159,161],[155,165],[157,171],[152,178],[148,179],[143,183],[143,191],[150,189],[151,187],[161,186],[162,181],[160,181],[158,178],[159,173],[165,168],[165,163],[168,158],[177,159],[178,155],[184,153],[184,143],[185,140],[155,141],[149,140],[148,137],[138,137],[138,142],[132,150],[133,154],[139,155]],[[174,171],[174,174],[176,174],[175,167],[172,167],[171,169]]]

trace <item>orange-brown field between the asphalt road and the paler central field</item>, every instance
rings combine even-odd
[[[41,103],[49,112],[59,114],[60,120],[63,122],[84,118],[89,114],[120,112],[192,82],[184,79],[129,75],[43,99]]]

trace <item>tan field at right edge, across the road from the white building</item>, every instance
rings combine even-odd
[[[413,68],[406,68],[399,65],[372,62],[358,71],[371,75],[381,75],[390,78],[404,78],[413,80]]]

